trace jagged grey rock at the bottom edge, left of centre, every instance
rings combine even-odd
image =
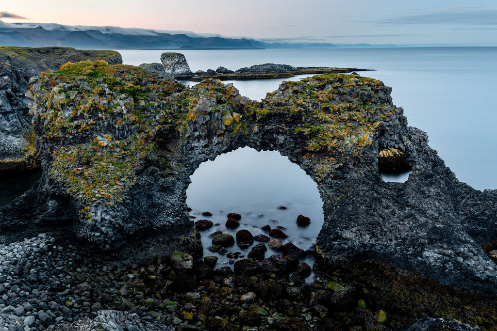
[[[170,331],[171,328],[152,318],[143,319],[136,314],[117,310],[101,310],[95,316],[71,325],[59,325],[54,331]]]

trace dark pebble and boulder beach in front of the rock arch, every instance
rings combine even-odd
[[[464,293],[451,299],[429,283],[409,293],[402,280],[393,289],[388,281],[379,287],[380,282],[356,276],[337,277],[324,261],[315,265],[320,275],[306,283],[308,265],[271,253],[239,260],[233,268],[178,251],[137,264],[78,253],[45,234],[0,252],[0,331],[123,330],[113,329],[116,325],[144,331],[406,330],[411,324],[413,331],[435,330],[426,329],[429,325],[479,330],[455,320],[416,322],[417,309],[410,312],[411,304],[403,300],[428,293],[425,314],[448,320],[465,316],[480,321],[484,330],[497,325],[493,311],[481,311],[489,305],[495,309],[495,302]],[[391,297],[395,291],[406,292]]]

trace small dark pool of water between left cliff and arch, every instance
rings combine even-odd
[[[0,177],[0,206],[8,204],[29,190],[41,177],[40,171],[7,174]]]

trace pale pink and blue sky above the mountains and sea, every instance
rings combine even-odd
[[[16,0],[4,22],[113,25],[277,42],[497,44],[497,1]]]

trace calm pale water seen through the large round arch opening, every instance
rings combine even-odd
[[[214,223],[210,229],[201,231],[201,235],[204,256],[217,256],[217,267],[228,265],[230,259],[226,255],[208,251],[212,245],[209,234],[215,231],[235,237],[238,230],[247,229],[252,235],[267,236],[262,226],[282,226],[282,231],[288,235],[282,240],[283,244],[292,242],[307,250],[316,243],[324,221],[323,202],[317,185],[298,165],[278,152],[240,148],[218,156],[214,161],[202,163],[191,180],[186,191],[186,202],[193,209],[190,215],[196,217],[193,221],[209,219]],[[279,209],[279,206],[287,209]],[[211,212],[212,216],[202,216],[204,211]],[[240,226],[236,229],[225,226],[226,215],[231,212],[242,215]],[[311,224],[297,226],[299,214],[310,217]],[[258,243],[254,242],[246,250],[235,244],[228,252],[241,252],[247,257],[251,248]],[[273,254],[279,252],[268,248],[265,256]],[[303,261],[312,266],[313,260],[306,258]]]

